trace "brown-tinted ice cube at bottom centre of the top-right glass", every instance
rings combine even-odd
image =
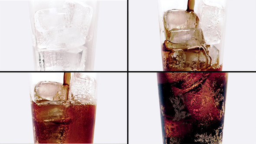
[[[211,64],[211,59],[203,47],[187,49],[185,71],[200,71]]]

